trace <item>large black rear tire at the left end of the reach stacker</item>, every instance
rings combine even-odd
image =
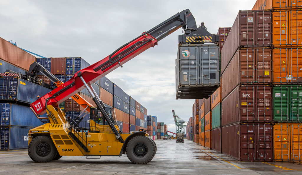
[[[57,152],[49,136],[37,136],[28,145],[29,157],[38,163],[52,161]]]

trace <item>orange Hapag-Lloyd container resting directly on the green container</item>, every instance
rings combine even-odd
[[[275,84],[302,82],[302,47],[273,49],[273,81]]]

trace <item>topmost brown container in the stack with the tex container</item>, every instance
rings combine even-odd
[[[271,45],[271,11],[239,11],[221,50],[223,72],[239,47]]]

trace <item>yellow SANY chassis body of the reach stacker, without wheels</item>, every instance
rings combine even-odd
[[[47,135],[53,140],[57,151],[61,156],[73,155],[73,156],[101,156],[101,155],[115,155],[121,156],[125,153],[124,145],[134,136],[144,135],[148,136],[145,132],[136,132],[133,134],[120,134],[124,143],[116,139],[113,131],[109,125],[99,125],[94,120],[90,120],[90,132],[76,132],[76,137],[81,140],[85,139],[85,143],[89,152],[85,152],[83,148],[73,139],[69,132],[75,132],[70,129],[69,123],[66,121],[65,113],[60,108],[54,108],[52,105],[47,105],[49,111],[47,111],[50,123],[46,123],[39,127],[29,130],[28,144],[31,140],[40,135]],[[50,114],[52,113],[52,114]],[[93,127],[92,127],[93,126]],[[117,130],[119,128],[114,125]],[[69,129],[68,129],[69,128]],[[95,132],[96,128],[98,132]]]

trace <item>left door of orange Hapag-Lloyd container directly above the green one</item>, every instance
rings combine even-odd
[[[291,76],[288,75],[288,49],[273,49],[273,81],[275,84],[287,83]]]

